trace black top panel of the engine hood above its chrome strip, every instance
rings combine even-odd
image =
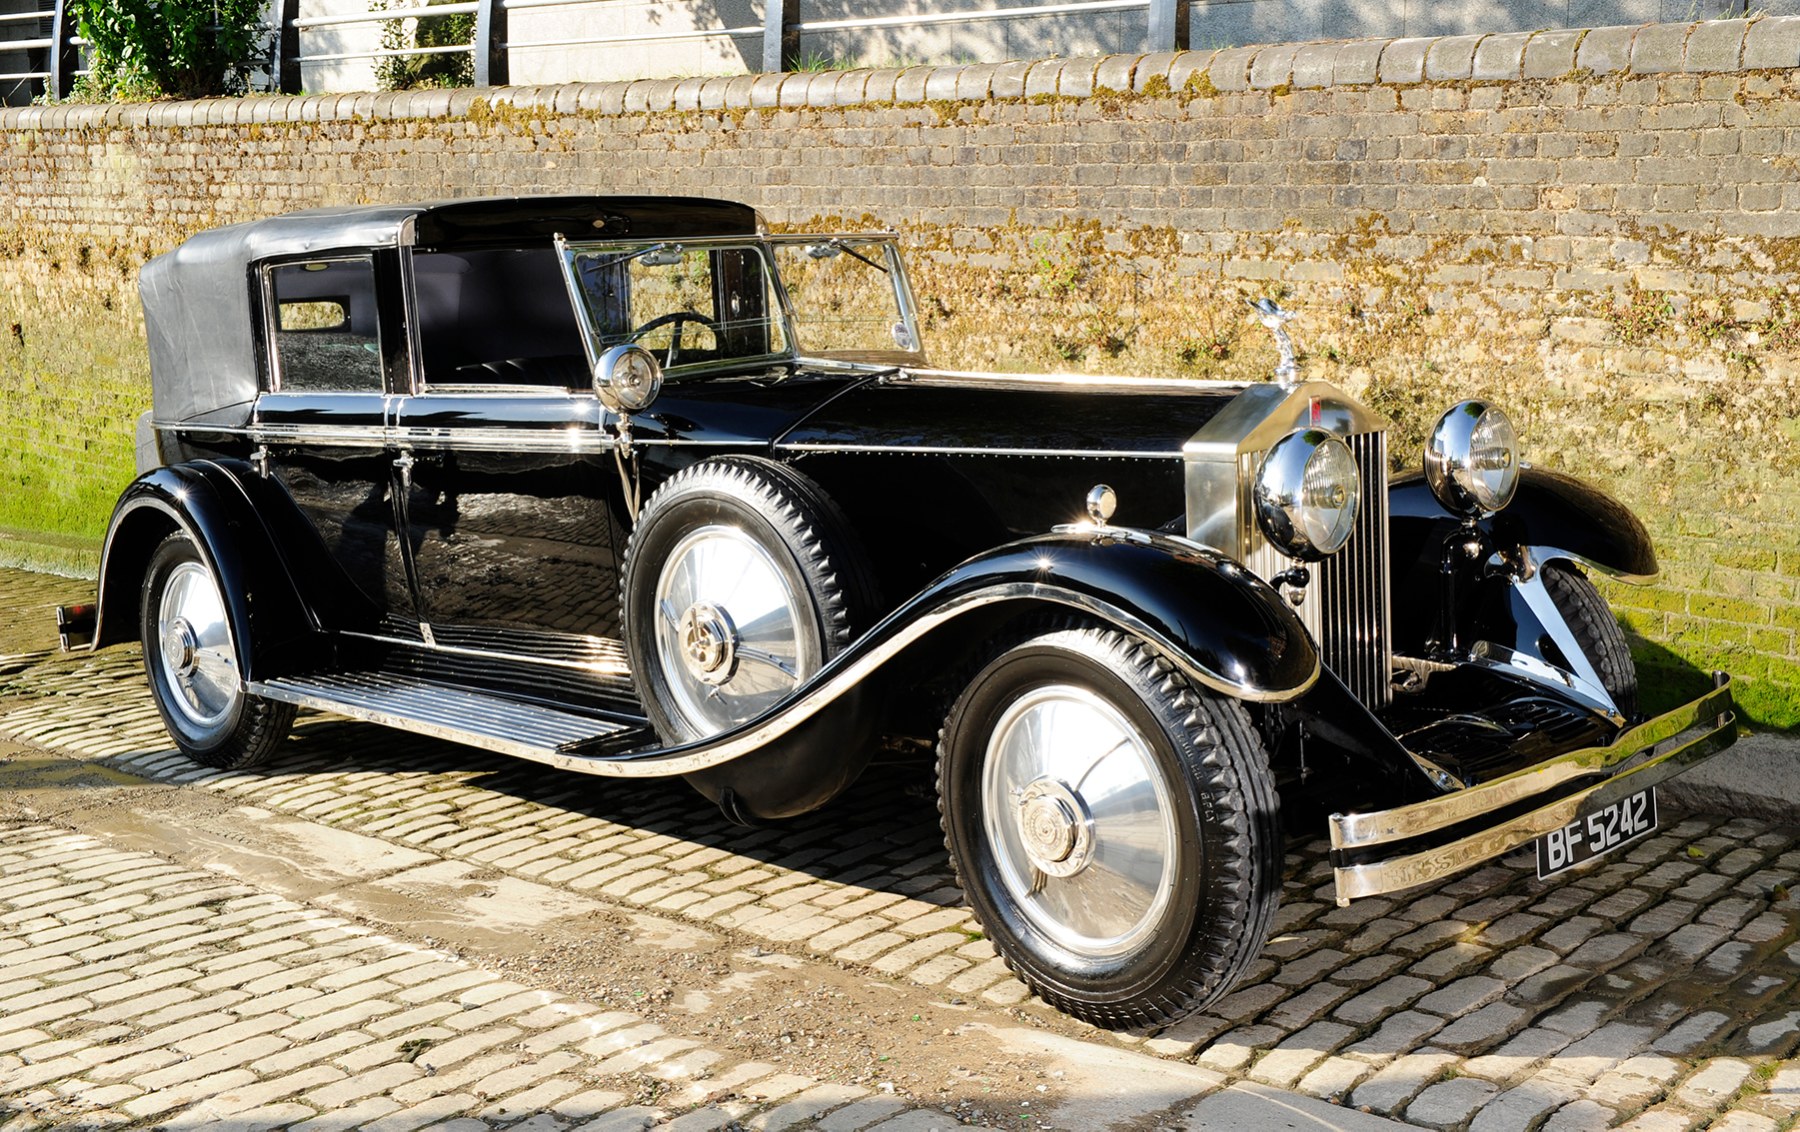
[[[850,389],[778,452],[1183,457],[1244,385],[1157,378],[900,371]]]

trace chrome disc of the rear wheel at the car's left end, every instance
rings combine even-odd
[[[198,562],[178,563],[162,587],[157,662],[171,693],[169,707],[198,729],[225,722],[243,696],[225,601],[211,570]]]

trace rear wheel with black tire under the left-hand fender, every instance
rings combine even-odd
[[[218,579],[200,558],[200,551],[182,533],[169,535],[149,556],[144,570],[144,588],[139,594],[140,641],[144,642],[144,671],[149,693],[169,731],[169,738],[196,763],[236,770],[254,767],[274,754],[293,725],[293,705],[277,704],[243,691],[238,673],[236,642],[230,628],[218,621],[216,628],[202,628],[200,635],[175,637],[173,651],[164,644],[164,597],[171,581],[184,587],[211,587],[211,601],[220,599]],[[196,608],[207,596],[196,590]],[[182,623],[187,623],[182,619]],[[196,660],[205,655],[209,660]],[[221,678],[196,684],[193,675],[211,671]],[[191,673],[191,675],[184,675]],[[229,689],[227,689],[229,686]],[[205,687],[205,691],[196,691]],[[185,691],[184,691],[185,689]],[[211,698],[209,698],[211,696]]]

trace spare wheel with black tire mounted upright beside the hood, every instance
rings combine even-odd
[[[682,569],[689,540],[706,531],[718,531],[731,547],[740,542],[754,547],[767,556],[756,567],[767,574],[765,581],[785,587],[794,626],[790,677],[749,659],[747,639],[734,632],[742,617],[731,614],[733,585],[697,583],[695,592],[684,590],[682,601],[668,608],[659,599],[659,588],[670,585],[668,574]],[[704,574],[697,567],[697,576]],[[698,463],[650,497],[625,549],[621,588],[625,648],[637,695],[666,743],[716,734],[733,720],[743,722],[776,704],[783,698],[778,686],[808,678],[866,628],[875,610],[866,556],[837,504],[799,472],[749,455]],[[718,668],[706,673],[715,691],[704,695],[697,691],[702,677],[671,653],[666,635],[679,633],[680,619],[702,608],[722,614],[700,617],[720,630],[707,641],[733,642],[718,657]],[[754,668],[763,669],[760,677]],[[711,682],[720,677],[722,682]]]

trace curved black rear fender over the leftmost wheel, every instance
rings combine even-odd
[[[119,497],[101,551],[94,648],[137,641],[144,570],[182,531],[211,567],[245,680],[310,664],[324,637],[245,488],[243,473],[196,461],[155,468]]]

